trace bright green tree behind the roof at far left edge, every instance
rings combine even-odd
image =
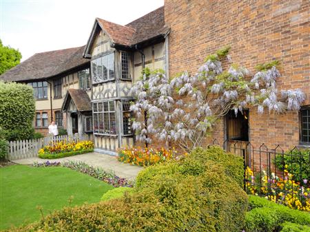
[[[0,75],[18,65],[21,61],[21,52],[10,46],[3,46],[0,39]]]

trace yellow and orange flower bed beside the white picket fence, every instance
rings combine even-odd
[[[39,158],[63,158],[67,156],[75,156],[94,151],[94,143],[92,141],[79,141],[78,143],[66,143],[61,141],[48,145],[39,150]]]

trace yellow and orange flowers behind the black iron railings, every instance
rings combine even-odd
[[[284,204],[291,209],[310,211],[310,186],[307,179],[302,184],[296,182],[291,173],[286,169],[284,178],[279,178],[275,173],[267,176],[266,171],[254,176],[254,172],[247,167],[245,178],[247,193],[265,196],[267,199]]]

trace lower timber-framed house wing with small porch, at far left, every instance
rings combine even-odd
[[[44,136],[52,120],[69,135],[91,136],[90,61],[83,59],[83,50],[84,46],[37,53],[0,76],[1,81],[33,87],[33,125]]]

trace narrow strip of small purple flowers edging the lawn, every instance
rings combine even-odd
[[[68,167],[74,171],[79,171],[81,173],[85,173],[89,176],[92,176],[98,180],[102,180],[107,182],[108,184],[112,184],[114,187],[133,187],[134,182],[127,180],[125,178],[120,178],[116,176],[112,171],[105,171],[99,167],[92,167],[90,165],[85,164],[85,162],[76,162],[76,161],[68,161],[68,162],[34,162],[34,167]]]

